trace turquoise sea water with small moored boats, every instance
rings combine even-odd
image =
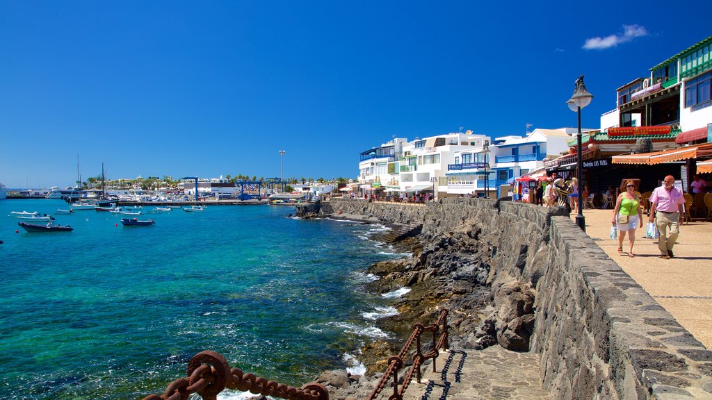
[[[375,319],[394,312],[392,300],[365,293],[362,271],[402,255],[368,239],[377,226],[209,206],[130,228],[111,213],[59,208],[0,200],[4,399],[140,399],[204,349],[300,386],[323,369],[358,369],[353,350],[387,335]],[[74,231],[27,233],[10,211],[53,214]]]

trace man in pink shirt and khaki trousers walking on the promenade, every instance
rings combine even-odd
[[[658,248],[662,254],[660,258],[666,260],[674,257],[672,248],[680,234],[680,223],[684,218],[682,205],[685,204],[685,197],[682,191],[673,186],[674,184],[675,178],[668,175],[663,181],[663,186],[656,188],[650,196],[650,222],[655,219],[655,226],[660,232],[658,240]],[[670,236],[668,236],[668,228],[670,228]]]

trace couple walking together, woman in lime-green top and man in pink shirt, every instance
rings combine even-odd
[[[663,185],[657,187],[650,196],[649,223],[654,223],[659,233],[658,248],[660,258],[669,260],[674,257],[673,248],[680,234],[680,224],[684,221],[682,206],[685,197],[675,186],[675,178],[668,175]],[[626,181],[625,191],[618,195],[613,209],[612,225],[618,230],[618,253],[624,255],[623,241],[628,236],[629,257],[635,257],[635,231],[643,227],[643,211],[641,199],[636,193],[634,181]]]

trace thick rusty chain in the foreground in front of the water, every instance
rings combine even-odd
[[[172,381],[162,395],[150,394],[143,400],[187,400],[198,394],[204,400],[216,400],[224,389],[249,391],[286,400],[329,400],[329,391],[316,382],[301,388],[268,381],[255,374],[230,368],[225,357],[211,351],[199,352],[188,362],[187,377]]]

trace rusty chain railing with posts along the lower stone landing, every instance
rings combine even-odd
[[[393,379],[393,394],[388,397],[388,400],[402,400],[403,399],[403,394],[405,391],[408,389],[408,386],[410,384],[410,381],[413,378],[413,374],[416,374],[416,377],[418,379],[418,383],[420,383],[421,379],[421,371],[420,367],[422,366],[423,362],[425,362],[426,359],[433,359],[433,372],[435,372],[435,360],[438,358],[438,349],[447,349],[449,347],[448,344],[448,337],[449,337],[449,327],[447,325],[447,315],[448,315],[448,310],[442,310],[440,312],[440,317],[438,320],[433,324],[428,327],[424,327],[422,324],[417,323],[415,324],[413,333],[410,335],[408,340],[405,342],[403,345],[403,348],[401,351],[392,357],[388,359],[388,368],[386,369],[386,372],[383,374],[383,377],[378,381],[378,384],[376,385],[375,389],[371,392],[371,395],[368,396],[367,400],[375,400],[377,399],[378,395],[385,389],[385,387],[388,384],[389,379]],[[440,332],[440,327],[442,326],[442,333],[440,337],[438,338],[438,332]],[[433,346],[432,349],[430,349],[429,352],[423,354],[421,346],[420,346],[420,336],[423,332],[432,332],[433,334]],[[398,387],[398,372],[404,365],[404,358],[407,356],[407,354],[410,352],[410,348],[413,346],[413,343],[416,344],[415,348],[415,354],[413,354],[413,365],[405,374],[405,377],[403,379],[403,383],[401,384],[400,388]]]

